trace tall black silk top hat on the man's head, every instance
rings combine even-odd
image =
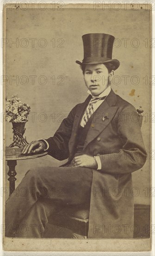
[[[110,34],[84,34],[82,36],[84,59],[76,61],[82,64],[109,63],[113,70],[119,67],[119,61],[112,59],[114,36]]]

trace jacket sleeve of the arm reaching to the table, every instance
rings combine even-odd
[[[72,134],[76,106],[70,111],[68,117],[63,119],[54,136],[45,139],[49,143],[48,155],[57,160],[65,160],[69,156],[68,142]]]

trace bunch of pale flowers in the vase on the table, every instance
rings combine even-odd
[[[28,104],[22,103],[17,94],[13,94],[11,99],[6,98],[6,121],[27,122],[30,109]]]

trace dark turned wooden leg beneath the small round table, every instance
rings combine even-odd
[[[15,181],[17,180],[15,178],[15,176],[17,174],[15,171],[15,166],[17,165],[17,160],[8,160],[7,165],[9,167],[9,171],[7,174],[9,175],[8,181],[10,183],[9,188],[10,188],[10,195],[11,195],[15,189]]]

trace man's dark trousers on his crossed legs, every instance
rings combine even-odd
[[[6,201],[6,236],[42,237],[52,213],[68,205],[90,204],[92,177],[90,168],[29,170]]]

